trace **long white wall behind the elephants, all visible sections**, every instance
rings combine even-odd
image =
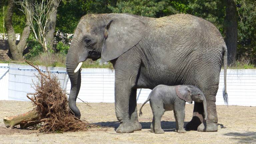
[[[0,64],[0,100],[28,101],[26,94],[34,92],[31,87],[32,79],[36,82],[34,73],[37,71],[28,65]],[[40,67],[45,70],[45,67]],[[70,81],[65,68],[49,68],[58,75],[63,88],[70,92]],[[55,72],[54,72],[55,71]],[[58,72],[57,72],[58,71]],[[87,102],[114,102],[115,72],[111,69],[82,69],[81,88],[78,95]],[[224,105],[222,90],[224,88],[223,70],[220,73],[219,90],[216,95],[216,104]],[[66,85],[67,83],[67,85]],[[150,89],[137,90],[137,102],[143,103]],[[227,92],[229,105],[256,106],[256,69],[228,69]],[[77,99],[77,102],[81,102]]]

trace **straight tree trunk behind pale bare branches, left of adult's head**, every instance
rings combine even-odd
[[[49,17],[49,23],[46,27],[46,45],[48,50],[53,49],[53,39],[54,39],[54,32],[55,32],[55,26],[56,26],[56,17],[57,17],[57,7],[59,5],[58,0],[52,0],[52,5],[50,7],[50,17]]]

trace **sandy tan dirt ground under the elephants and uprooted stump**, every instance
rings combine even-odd
[[[4,116],[17,115],[31,109],[31,102],[0,101],[0,143],[256,143],[256,107],[245,106],[217,106],[218,132],[187,131],[185,134],[176,133],[173,111],[165,112],[162,117],[164,134],[154,134],[149,131],[152,112],[149,104],[143,109],[143,116],[139,117],[142,130],[130,134],[118,134],[115,129],[119,123],[115,116],[113,103],[78,103],[82,119],[90,123],[104,126],[93,128],[86,132],[39,133],[36,130],[21,130],[6,128]],[[141,104],[138,104],[140,107]],[[186,105],[185,124],[191,120],[193,105]]]

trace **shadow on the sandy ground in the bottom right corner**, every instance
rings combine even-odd
[[[230,132],[224,134],[225,136],[232,136],[231,139],[238,140],[238,143],[256,143],[256,132]]]

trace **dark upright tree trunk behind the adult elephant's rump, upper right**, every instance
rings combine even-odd
[[[228,65],[236,60],[237,50],[237,12],[234,0],[226,1],[225,42],[228,50]]]

